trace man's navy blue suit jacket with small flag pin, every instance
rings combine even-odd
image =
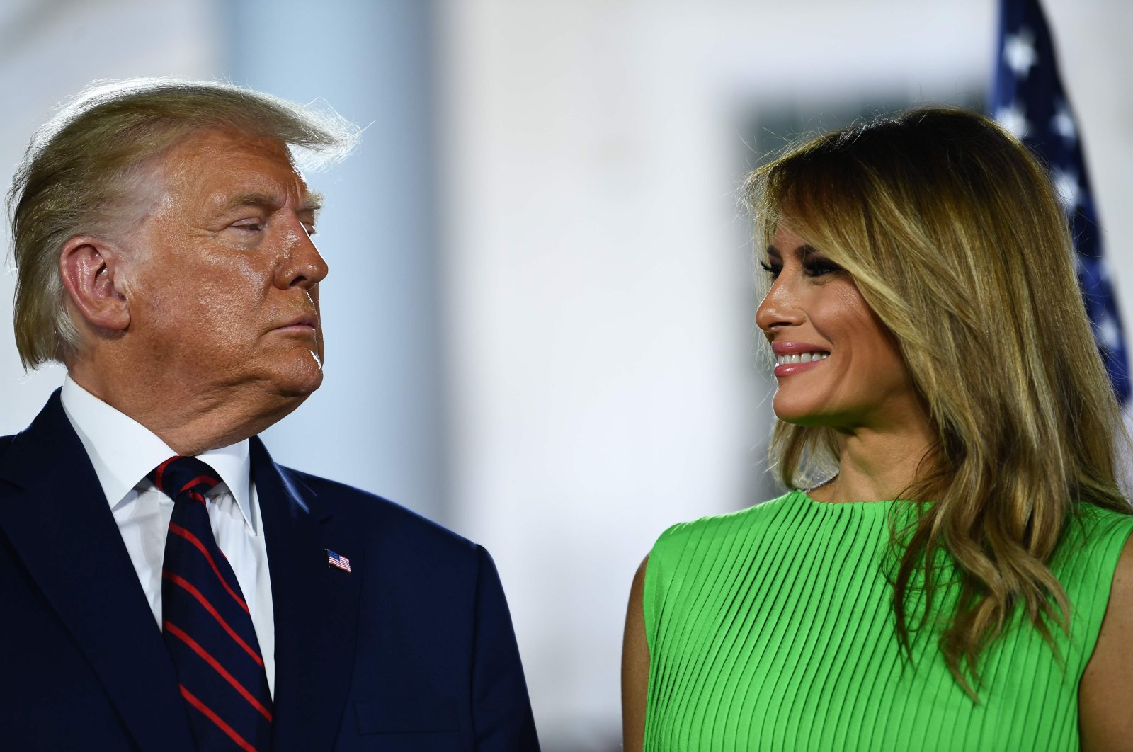
[[[537,750],[487,552],[252,439],[275,617],[274,749]],[[325,549],[352,572],[327,566]],[[190,752],[173,667],[59,401],[0,438],[0,746]]]

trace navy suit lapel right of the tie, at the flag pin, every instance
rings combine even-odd
[[[274,605],[274,749],[330,749],[350,690],[361,552],[340,552],[350,557],[351,573],[327,565],[326,549],[335,549],[326,540],[329,513],[258,438],[252,439],[252,477]]]

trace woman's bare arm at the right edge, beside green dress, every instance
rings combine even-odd
[[[1133,537],[1114,572],[1109,605],[1077,687],[1083,750],[1133,750]]]

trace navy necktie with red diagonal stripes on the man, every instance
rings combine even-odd
[[[165,460],[150,478],[176,502],[161,571],[162,634],[197,749],[267,750],[272,699],[259,642],[208,522],[205,494],[220,479],[191,456]]]

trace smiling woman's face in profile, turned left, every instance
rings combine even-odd
[[[775,415],[840,431],[892,429],[923,409],[893,334],[850,274],[780,225],[756,323],[775,351]]]

